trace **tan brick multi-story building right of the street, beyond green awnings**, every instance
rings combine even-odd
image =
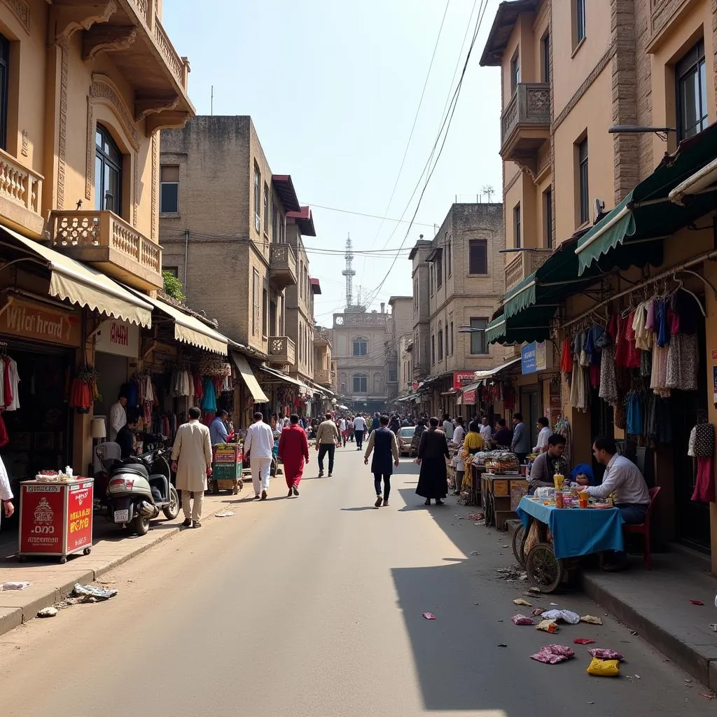
[[[433,414],[456,412],[454,374],[467,379],[503,356],[502,349],[498,356],[488,345],[485,328],[503,298],[504,249],[502,204],[453,204],[429,246],[414,247],[416,312],[423,318],[418,341],[428,339],[425,363],[419,365],[429,370],[420,380]],[[421,317],[426,304],[427,324],[425,313]],[[416,336],[414,351],[415,345]]]

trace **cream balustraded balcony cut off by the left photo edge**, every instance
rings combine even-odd
[[[22,234],[42,237],[42,175],[0,149],[0,217]]]

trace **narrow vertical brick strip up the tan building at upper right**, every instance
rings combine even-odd
[[[639,0],[638,0],[639,1]],[[612,70],[612,121],[637,124],[637,70],[635,67],[635,0],[611,0],[610,22],[614,55]],[[614,135],[614,204],[640,181],[639,140]]]

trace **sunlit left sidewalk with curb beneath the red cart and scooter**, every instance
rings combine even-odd
[[[204,518],[212,520],[220,510],[241,510],[237,500],[251,499],[251,485],[239,495],[206,494],[204,498]],[[153,546],[179,534],[184,513],[174,521],[166,521],[162,516],[153,520],[146,536],[129,536],[118,526],[105,520],[104,516],[95,516],[93,526],[92,553],[88,556],[79,553],[67,558],[65,565],[57,559],[28,559],[21,563],[14,553],[17,549],[16,532],[3,533],[0,536],[0,583],[6,581],[27,581],[30,587],[25,590],[0,592],[0,635],[33,619],[39,610],[49,607],[67,597],[75,583],[87,584],[98,580],[116,566],[140,555]]]

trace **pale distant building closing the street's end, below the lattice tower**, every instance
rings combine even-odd
[[[386,324],[390,315],[351,307],[333,315],[331,346],[337,363],[338,392],[361,412],[386,408]]]

